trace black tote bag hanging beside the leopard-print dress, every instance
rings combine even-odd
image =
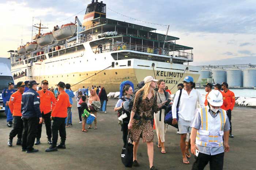
[[[121,160],[125,167],[132,167],[133,163],[133,144],[131,140],[131,132],[128,132],[127,143],[124,144],[124,147],[121,152]]]

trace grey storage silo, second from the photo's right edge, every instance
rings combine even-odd
[[[242,71],[234,67],[227,70],[227,84],[229,87],[242,87]]]

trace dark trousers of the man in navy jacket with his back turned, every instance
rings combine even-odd
[[[37,117],[22,118],[23,119],[23,133],[22,133],[22,148],[33,150],[35,143],[35,136],[37,133]]]

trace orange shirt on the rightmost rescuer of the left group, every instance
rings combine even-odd
[[[67,117],[69,103],[69,96],[65,91],[62,91],[58,98],[55,107],[52,110],[52,117]]]

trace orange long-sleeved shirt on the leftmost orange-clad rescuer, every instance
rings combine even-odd
[[[12,116],[22,116],[21,99],[22,99],[22,94],[19,92],[19,90],[14,92],[14,94],[11,95],[8,106],[10,108]]]

